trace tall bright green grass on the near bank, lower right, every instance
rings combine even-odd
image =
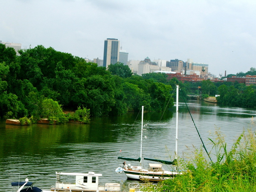
[[[253,124],[252,124],[253,125]],[[256,191],[256,132],[243,133],[227,150],[227,143],[218,130],[212,143],[211,162],[203,149],[195,149],[189,160],[180,160],[185,172],[165,180],[157,191],[165,192],[252,192]]]

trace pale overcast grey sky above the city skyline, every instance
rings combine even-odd
[[[255,0],[0,0],[0,41],[103,59],[117,38],[128,60],[179,59],[219,75],[256,67]]]

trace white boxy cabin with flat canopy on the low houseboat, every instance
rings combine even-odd
[[[98,189],[99,176],[102,174],[56,172],[55,189]],[[70,180],[70,177],[73,179]]]

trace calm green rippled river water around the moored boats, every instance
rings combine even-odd
[[[207,150],[208,138],[220,128],[228,148],[244,129],[251,126],[256,111],[221,107],[215,103],[189,101],[189,111]],[[200,148],[194,123],[185,103],[179,104],[178,155]],[[147,130],[143,139],[143,154],[148,158],[174,159],[176,114],[175,107],[160,113],[144,113]],[[55,171],[101,173],[100,183],[128,183],[125,174],[116,174],[122,160],[117,157],[140,156],[141,116],[128,113],[118,117],[92,118],[88,125],[5,125],[0,122],[0,191],[12,191],[11,182],[26,177],[41,189],[55,184]],[[161,119],[161,120],[160,120]],[[211,154],[213,156],[213,154]],[[214,159],[214,157],[212,157]],[[128,163],[128,162],[127,162]],[[148,163],[148,162],[145,162]],[[166,168],[168,169],[168,167]]]

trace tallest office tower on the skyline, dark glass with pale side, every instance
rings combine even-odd
[[[119,43],[118,39],[107,38],[105,40],[103,67],[108,68],[108,65],[116,64],[119,61]]]

